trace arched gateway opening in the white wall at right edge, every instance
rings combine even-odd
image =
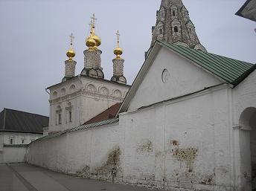
[[[239,120],[241,173],[246,181],[247,189],[256,191],[256,108],[247,108]]]

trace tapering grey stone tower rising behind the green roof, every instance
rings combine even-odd
[[[199,42],[195,27],[182,0],[161,0],[160,9],[156,15],[156,25],[152,29],[151,46],[159,40],[206,51]]]

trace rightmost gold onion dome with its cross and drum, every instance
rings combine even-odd
[[[115,59],[112,59],[113,62],[113,77],[111,81],[127,84],[127,79],[124,77],[124,59],[121,58],[123,50],[120,48],[120,36],[119,30],[115,33],[117,36],[117,47],[114,50]]]

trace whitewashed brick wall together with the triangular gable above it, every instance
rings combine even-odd
[[[244,127],[240,116],[249,107],[256,109],[256,72],[233,89],[218,85],[138,109],[220,83],[174,54],[159,54],[158,67],[148,71],[119,124],[35,141],[28,147],[28,163],[171,190],[250,191],[255,126]],[[170,71],[167,88],[161,82],[164,68]]]

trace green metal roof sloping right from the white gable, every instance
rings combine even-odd
[[[205,68],[207,71],[210,71],[212,74],[234,86],[242,82],[256,68],[256,65],[237,59],[231,59],[203,51],[196,51],[192,48],[169,44],[167,42],[158,41],[158,43],[171,51],[184,56],[197,65],[202,66],[202,68]]]

